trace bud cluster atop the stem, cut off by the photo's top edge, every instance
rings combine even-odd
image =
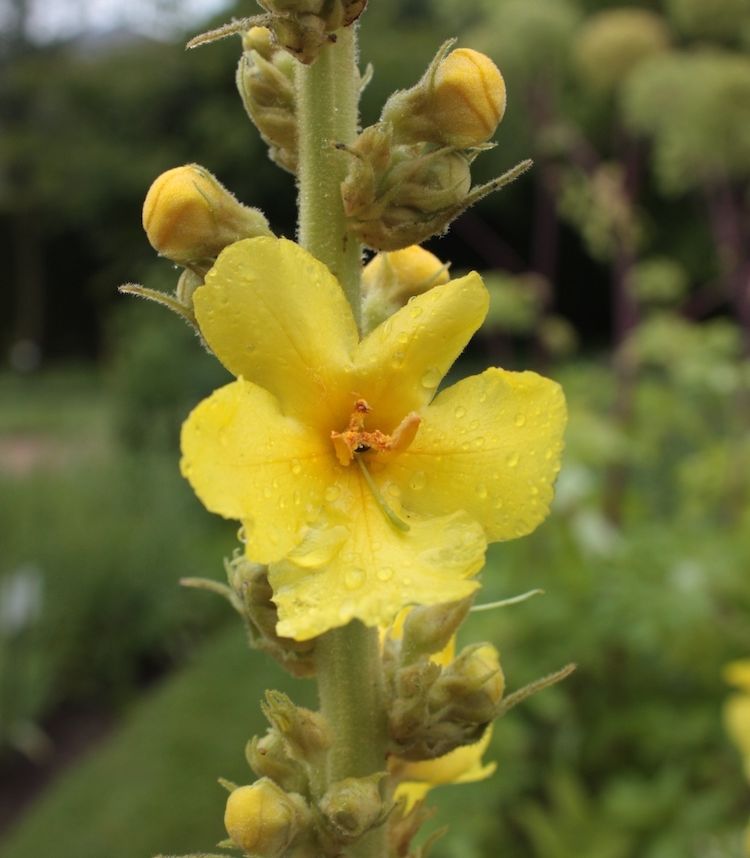
[[[258,0],[270,13],[268,26],[278,44],[306,65],[334,33],[351,26],[364,12],[367,0]]]

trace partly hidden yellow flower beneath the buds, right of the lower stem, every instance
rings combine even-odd
[[[407,809],[420,801],[437,786],[467,784],[483,781],[494,774],[496,763],[482,764],[482,756],[492,738],[492,727],[473,745],[456,748],[436,760],[410,763],[394,760],[397,773],[403,781],[396,787],[396,799],[405,798]]]

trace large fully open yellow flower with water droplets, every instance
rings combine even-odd
[[[559,386],[493,368],[435,396],[487,304],[469,274],[360,341],[329,270],[274,238],[228,247],[195,291],[201,332],[237,381],[185,422],[182,472],[269,565],[279,634],[465,598],[486,542],[547,515]]]

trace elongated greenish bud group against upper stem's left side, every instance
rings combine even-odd
[[[280,167],[297,170],[297,115],[294,60],[273,43],[266,27],[243,37],[245,52],[237,66],[237,89],[250,119]]]

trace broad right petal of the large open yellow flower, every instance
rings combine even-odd
[[[443,391],[409,449],[384,473],[422,515],[462,509],[489,542],[546,517],[566,422],[560,386],[533,372],[488,369]]]

